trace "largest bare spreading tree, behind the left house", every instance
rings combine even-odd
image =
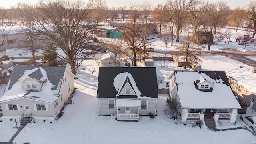
[[[86,50],[84,44],[92,36],[90,10],[87,10],[82,1],[41,1],[37,5],[38,13],[34,14],[36,22],[41,26],[37,30],[43,38],[60,48],[67,57],[59,57],[68,62],[72,73],[76,75],[78,67],[83,60],[91,54],[82,54]],[[85,21],[86,20],[86,21]]]

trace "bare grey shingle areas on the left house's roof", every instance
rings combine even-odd
[[[51,90],[57,90],[59,82],[62,80],[64,76],[64,72],[66,66],[20,66],[15,65],[10,76],[10,85],[8,86],[8,90],[12,88],[12,86],[18,82],[19,78],[24,75],[26,70],[32,70],[34,68],[43,68],[47,73],[48,80],[52,83],[53,87]],[[38,74],[38,76],[36,75]],[[36,70],[32,74],[30,74],[31,78],[35,78],[36,80],[40,80],[42,78],[42,73],[40,70]]]

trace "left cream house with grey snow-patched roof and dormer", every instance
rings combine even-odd
[[[15,65],[0,98],[3,116],[55,120],[74,90],[66,66]]]

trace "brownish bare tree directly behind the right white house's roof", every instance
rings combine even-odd
[[[192,42],[192,34],[186,32],[186,37],[182,39],[181,46],[178,47],[178,51],[174,52],[174,57],[182,62],[185,62],[184,68],[189,64],[198,64],[200,62],[200,56],[202,56],[202,47]]]

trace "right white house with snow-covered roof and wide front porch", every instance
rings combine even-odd
[[[182,107],[182,122],[235,122],[241,106],[224,71],[173,71],[168,79],[170,97]]]

